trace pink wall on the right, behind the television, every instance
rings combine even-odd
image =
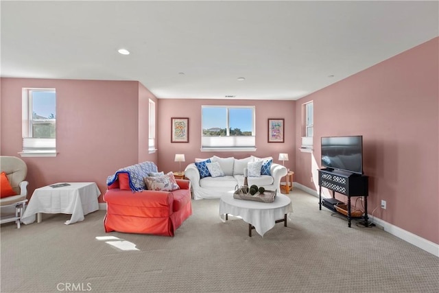
[[[299,141],[300,105],[313,100],[313,156],[319,166],[320,137],[363,135],[364,173],[370,176],[369,213],[386,200],[387,209],[379,207],[375,217],[436,244],[438,42],[434,38],[299,99],[295,121]],[[310,156],[296,150],[296,180],[314,188],[308,179]]]

